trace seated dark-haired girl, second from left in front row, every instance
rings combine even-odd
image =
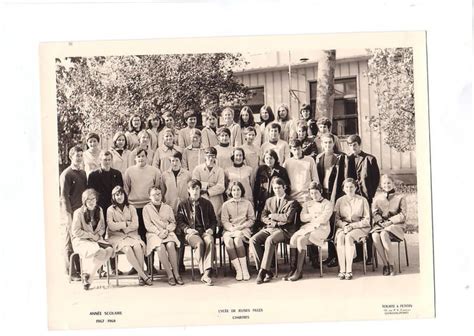
[[[115,252],[123,252],[128,262],[137,271],[139,285],[151,286],[151,278],[143,270],[145,243],[138,235],[137,210],[128,203],[128,197],[121,186],[112,192],[112,205],[107,209],[109,242]]]

